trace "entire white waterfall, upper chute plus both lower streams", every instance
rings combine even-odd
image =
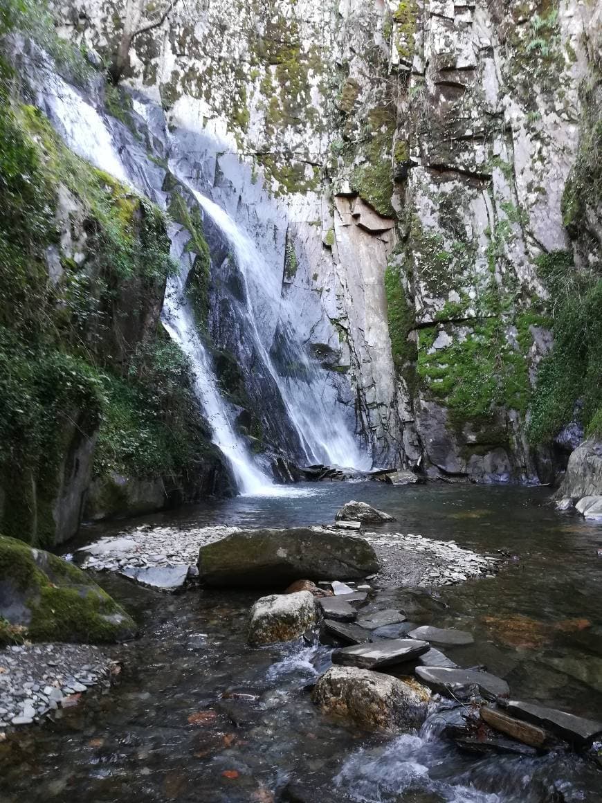
[[[104,117],[54,71],[49,69],[45,77],[47,80],[39,88],[39,103],[67,146],[119,181],[139,192],[144,192],[144,188],[137,186],[138,181],[125,166],[120,149],[113,140],[112,132]],[[143,164],[137,166],[144,172]],[[324,402],[325,377],[320,377],[319,370],[311,365],[298,337],[295,341],[297,333],[292,324],[293,311],[287,308],[281,297],[282,277],[266,271],[265,263],[250,237],[220,206],[205,198],[181,177],[177,178],[193,194],[202,210],[209,214],[216,226],[222,230],[233,248],[238,269],[245,283],[246,302],[242,312],[246,325],[253,336],[258,356],[280,389],[287,415],[299,435],[299,443],[307,462],[369,468],[370,459],[368,455],[360,453],[342,414],[339,410],[329,409],[330,406]],[[197,332],[185,296],[185,279],[190,267],[189,256],[182,253],[181,246],[177,244],[175,231],[171,232],[171,238],[173,256],[181,264],[181,273],[169,279],[162,319],[169,334],[193,364],[197,395],[212,430],[214,443],[230,463],[238,490],[242,494],[274,495],[279,492],[291,494],[290,489],[285,490],[275,486],[261,471],[254,463],[245,442],[234,430],[234,411],[220,393],[211,359]],[[262,321],[269,321],[272,336],[275,321],[279,321],[283,326],[286,333],[284,340],[287,358],[295,361],[295,365],[301,366],[304,381],[295,380],[294,377],[282,377],[275,369],[270,357],[271,344],[266,341],[268,327],[262,326]]]

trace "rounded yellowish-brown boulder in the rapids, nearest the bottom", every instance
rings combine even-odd
[[[429,690],[420,683],[350,666],[332,666],[315,684],[311,699],[327,714],[351,719],[370,731],[420,728]]]

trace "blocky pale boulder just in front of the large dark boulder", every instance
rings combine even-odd
[[[316,618],[314,597],[310,591],[261,597],[251,609],[249,643],[261,646],[290,642],[314,625]]]

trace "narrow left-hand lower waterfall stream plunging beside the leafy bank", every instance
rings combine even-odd
[[[179,261],[181,271],[168,279],[161,311],[163,325],[193,365],[197,397],[211,427],[214,443],[226,456],[234,471],[238,491],[242,495],[274,493],[274,483],[254,465],[245,444],[234,431],[230,420],[231,411],[219,393],[218,379],[185,296],[189,266],[185,265],[184,255],[178,247],[174,232],[170,232],[170,238],[172,256]]]

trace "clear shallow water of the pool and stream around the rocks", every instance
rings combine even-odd
[[[495,579],[441,589],[449,607],[417,623],[473,632],[474,646],[449,655],[462,666],[486,663],[513,696],[602,719],[602,528],[557,514],[546,489],[328,483],[298,490],[309,495],[239,497],[132,524],[311,524],[360,499],[396,515],[392,531],[502,548],[518,560]],[[289,779],[318,789],[323,801],[602,800],[602,772],[574,753],[467,756],[437,728],[366,736],[328,721],[306,687],[327,668],[329,650],[301,643],[250,650],[253,596],[165,597],[119,578],[104,585],[134,610],[144,635],[116,650],[124,671],[110,695],[0,744],[2,801],[265,803],[278,801]],[[258,699],[222,699],[232,687]]]

